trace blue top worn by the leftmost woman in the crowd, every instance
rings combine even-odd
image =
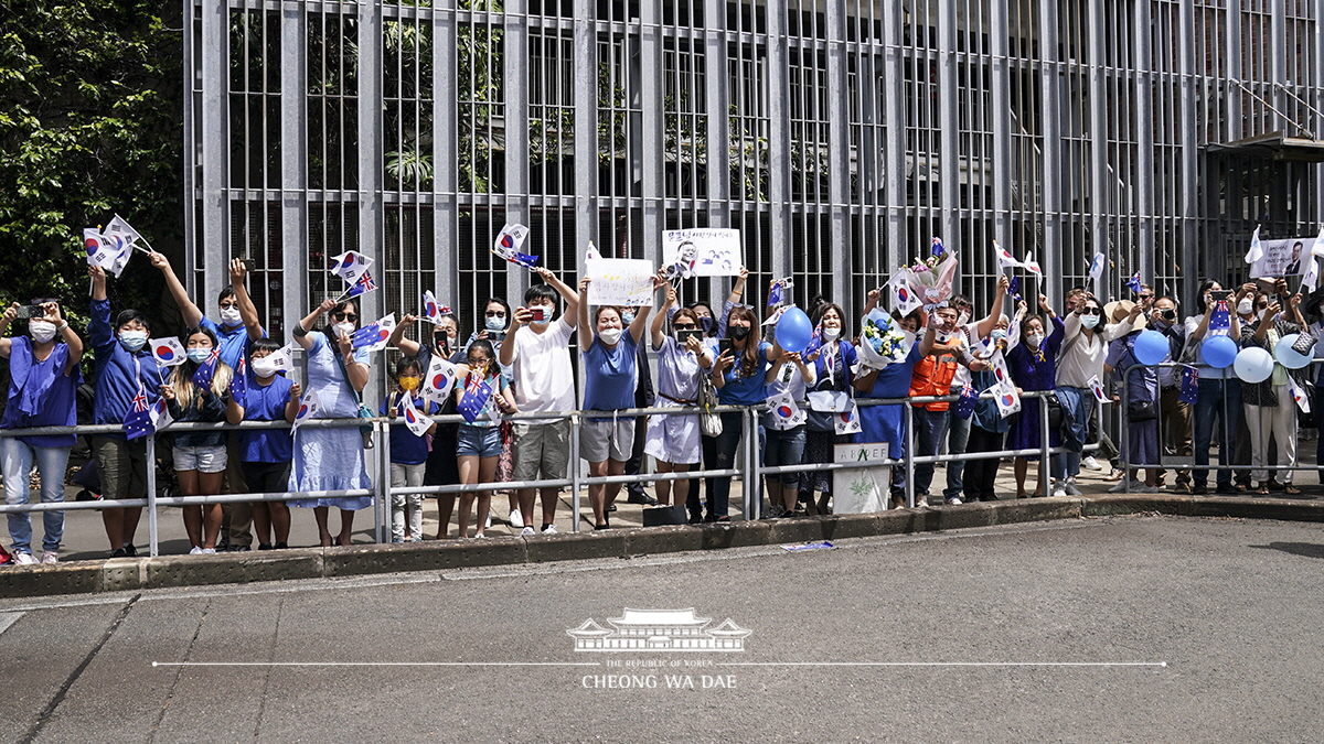
[[[32,429],[34,426],[74,426],[74,395],[82,384],[82,371],[74,367],[65,376],[69,363],[69,344],[61,342],[50,349],[45,361],[32,353],[32,339],[15,336],[9,346],[9,396],[0,420],[0,429]],[[74,434],[45,437],[19,437],[33,447],[71,447]]]

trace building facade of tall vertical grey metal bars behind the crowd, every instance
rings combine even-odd
[[[747,302],[850,314],[940,236],[977,307],[990,244],[1054,301],[1112,259],[1189,302],[1321,214],[1324,0],[184,0],[189,283],[252,257],[274,335],[383,289],[473,328],[528,271],[506,222],[573,278],[584,249],[661,259],[661,233],[739,228]],[[726,279],[688,281],[683,299]],[[1033,291],[1026,287],[1026,291]]]

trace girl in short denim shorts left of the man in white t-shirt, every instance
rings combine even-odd
[[[479,385],[491,388],[491,397],[483,404],[473,422],[459,424],[459,449],[457,461],[459,465],[459,482],[463,485],[491,483],[496,475],[496,461],[502,453],[500,414],[515,413],[515,404],[511,402],[510,387],[502,377],[500,367],[496,364],[496,351],[491,342],[475,340],[469,344],[469,359],[465,368],[455,375],[455,405],[462,406],[465,396],[478,395]],[[478,499],[478,526],[474,537],[486,537],[487,511],[491,508],[491,491],[466,491],[459,495],[459,515],[457,524],[458,536],[469,537],[469,515],[474,499]],[[421,526],[420,526],[421,527]],[[449,526],[442,524],[445,534]]]

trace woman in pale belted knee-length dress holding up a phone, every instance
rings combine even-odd
[[[658,355],[658,408],[694,406],[699,398],[699,375],[712,365],[712,357],[703,348],[703,330],[699,318],[690,308],[677,310],[671,318],[674,335],[663,335],[662,327],[670,310],[675,307],[675,287],[667,286],[666,303],[653,318],[653,351]],[[647,443],[643,451],[653,455],[657,471],[685,473],[699,462],[699,417],[653,416],[649,418]],[[673,485],[674,483],[674,485]],[[683,503],[690,494],[690,481],[658,481],[657,500],[662,506]]]

